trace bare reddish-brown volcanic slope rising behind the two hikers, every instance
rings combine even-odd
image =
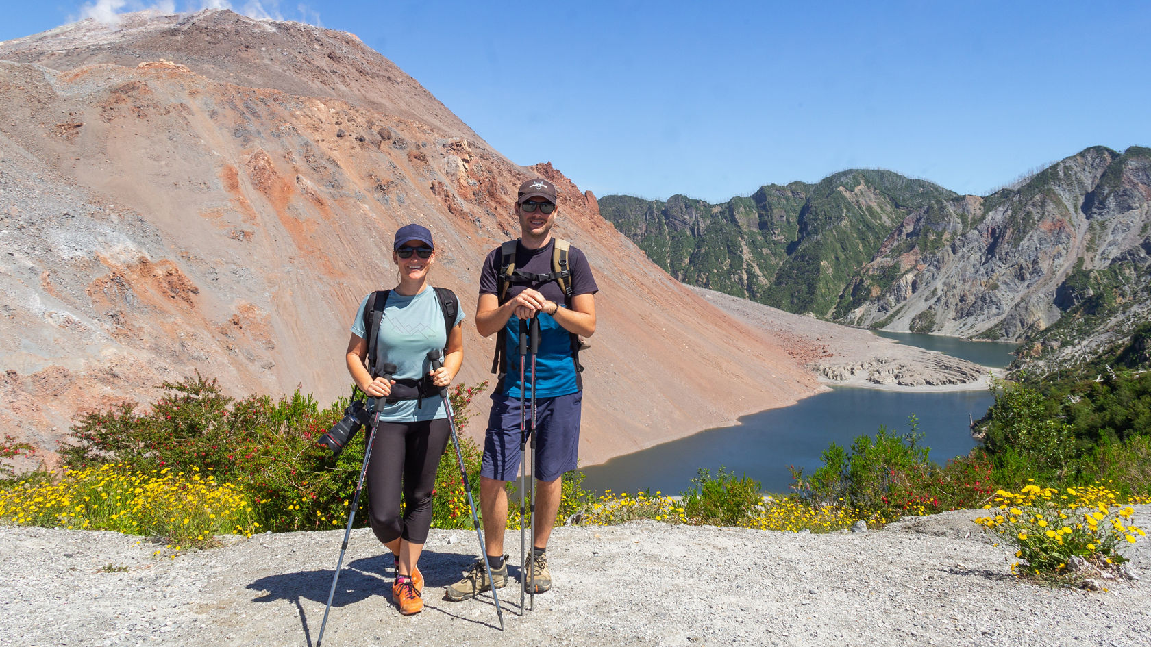
[[[471,318],[531,174],[559,188],[556,234],[601,287],[585,462],[818,389],[647,261],[594,196],[511,163],[353,36],[137,14],[0,45],[0,429],[51,449],[77,412],[193,371],[234,394],[345,393],[348,327],[395,284],[395,229],[432,229],[433,280]],[[465,343],[474,383],[493,342],[470,319]]]

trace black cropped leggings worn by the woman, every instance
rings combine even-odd
[[[447,418],[421,423],[383,423],[375,428],[367,464],[367,495],[372,532],[387,543],[403,538],[424,543],[432,526],[432,489],[440,456],[448,447]],[[399,517],[403,481],[404,517]]]

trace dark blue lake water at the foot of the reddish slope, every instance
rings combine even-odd
[[[931,350],[946,348],[948,355],[992,367],[1006,366],[1014,349],[1014,344],[935,335],[884,336]],[[723,465],[759,480],[768,492],[786,492],[792,482],[788,465],[810,474],[823,464],[820,455],[831,442],[849,446],[860,434],[875,435],[879,425],[907,433],[913,413],[924,434],[922,444],[931,448],[931,459],[945,463],[975,447],[970,420],[981,418],[993,401],[986,390],[910,393],[832,387],[792,406],[744,416],[734,427],[708,429],[584,467],[584,487],[596,493],[650,488],[679,494],[692,486],[700,467],[715,474]]]

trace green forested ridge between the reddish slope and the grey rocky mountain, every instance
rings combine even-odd
[[[895,224],[954,197],[887,170],[845,170],[718,205],[604,196],[600,212],[679,281],[829,317]]]

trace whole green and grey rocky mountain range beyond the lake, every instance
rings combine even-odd
[[[1151,309],[1149,149],[1093,146],[986,197],[847,170],[719,205],[600,210],[677,279],[792,312],[1023,342],[1016,367],[1041,372],[1151,359],[1133,341]]]

